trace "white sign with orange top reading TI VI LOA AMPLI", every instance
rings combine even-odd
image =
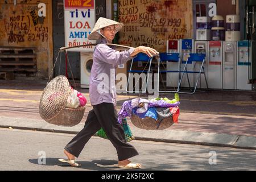
[[[96,21],[94,0],[64,0],[65,47],[95,43],[88,36]],[[79,47],[68,51],[92,52],[93,47]]]

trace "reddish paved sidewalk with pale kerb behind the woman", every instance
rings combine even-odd
[[[78,133],[84,126],[92,107],[86,107],[81,123],[74,127],[51,125],[40,118],[38,106],[46,82],[0,80],[0,127]],[[79,89],[89,98],[88,89]],[[118,110],[126,100],[138,95],[118,96]],[[142,95],[141,97],[145,97]],[[160,97],[172,98],[173,94]],[[180,95],[179,124],[162,131],[141,130],[128,123],[138,140],[202,144],[250,148],[256,150],[256,93],[255,92],[197,92]]]

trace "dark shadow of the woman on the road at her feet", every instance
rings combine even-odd
[[[41,166],[60,166],[60,167],[72,167],[68,163],[63,163],[59,161],[59,158],[41,158],[41,159],[29,159],[32,164],[37,164]],[[110,171],[116,170],[117,160],[92,160],[92,162],[86,161],[76,161],[82,166],[76,167],[77,169],[88,169],[97,171]]]

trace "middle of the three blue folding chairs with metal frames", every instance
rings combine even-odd
[[[178,63],[178,68],[176,70],[167,70],[167,68],[165,68],[165,70],[161,70],[160,71],[160,62],[163,64],[163,62],[174,62],[174,63]],[[161,91],[159,90],[159,75],[161,75],[160,73],[178,73],[179,74],[179,78],[180,78],[180,57],[179,57],[179,53],[160,53],[159,55],[159,60],[158,60],[158,92],[159,93],[172,93],[172,92],[176,92],[175,91]],[[163,78],[162,78],[163,79]],[[177,83],[179,84],[179,83]]]

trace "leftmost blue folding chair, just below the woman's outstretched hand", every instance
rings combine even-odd
[[[133,63],[138,63],[139,61],[146,62],[147,64],[149,63],[148,69],[145,68],[143,71],[132,69],[133,68]],[[147,84],[148,84],[149,73],[150,73],[150,69],[151,69],[151,63],[152,63],[152,57],[148,57],[144,53],[138,53],[138,55],[133,58],[133,60],[131,61],[130,70],[128,71],[129,76],[128,76],[128,81],[127,81],[127,85],[126,85],[126,92],[127,93],[146,93],[147,92]],[[142,81],[142,86],[143,86],[144,82],[146,81],[146,88],[143,91],[142,90],[140,90],[140,91],[135,91],[135,90],[130,91],[130,90],[128,90],[130,76],[133,75],[133,73],[139,73],[140,77],[141,77],[141,74],[146,73],[146,77],[145,77],[144,81]],[[137,82],[135,81],[135,86],[133,87],[133,89],[136,87],[138,82],[139,82],[139,80]]]

